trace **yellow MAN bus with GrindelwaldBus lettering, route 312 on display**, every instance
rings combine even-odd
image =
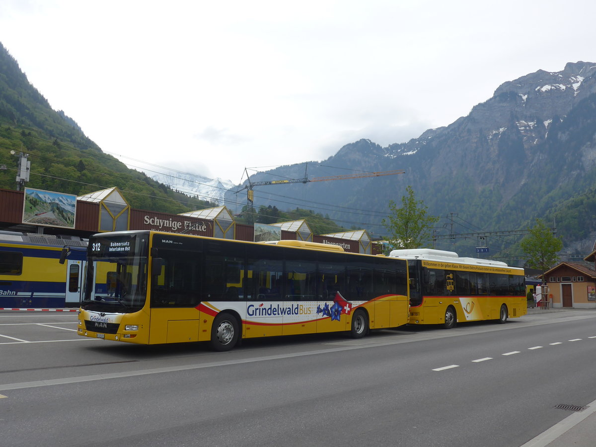
[[[78,334],[209,342],[408,322],[407,262],[302,241],[253,243],[155,231],[89,238]]]

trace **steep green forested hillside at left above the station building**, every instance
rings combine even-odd
[[[15,154],[12,154],[14,151]],[[52,110],[0,44],[0,188],[15,189],[18,154],[29,154],[25,185],[75,195],[118,187],[132,207],[182,213],[212,206],[176,193],[105,154],[75,120]]]

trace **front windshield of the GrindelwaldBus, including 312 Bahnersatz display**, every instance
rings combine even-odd
[[[82,308],[120,313],[142,309],[147,298],[147,252],[144,234],[90,238]]]

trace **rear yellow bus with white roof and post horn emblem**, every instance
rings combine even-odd
[[[408,260],[409,324],[442,324],[526,315],[523,268],[432,249],[393,250]]]

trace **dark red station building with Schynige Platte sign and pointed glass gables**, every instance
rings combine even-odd
[[[64,217],[60,207],[52,203],[71,210],[72,217]],[[82,240],[97,232],[154,230],[242,241],[312,241],[338,245],[351,253],[382,252],[371,243],[366,230],[313,235],[303,219],[272,225],[240,224],[225,206],[181,214],[134,209],[116,187],[79,197],[34,188],[0,189],[0,230],[66,240]]]

